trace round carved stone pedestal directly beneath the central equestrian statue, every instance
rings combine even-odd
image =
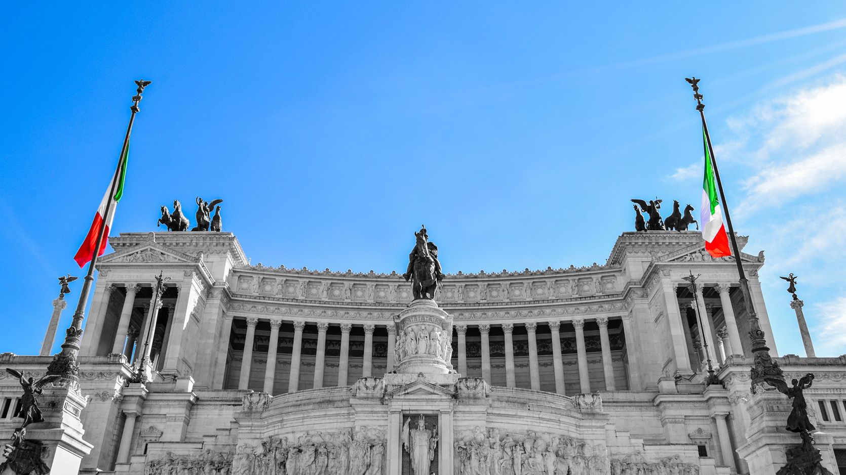
[[[419,298],[399,313],[396,361],[400,374],[449,374],[453,318],[434,300]]]

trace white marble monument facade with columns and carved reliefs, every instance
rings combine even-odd
[[[82,471],[775,472],[799,443],[779,429],[790,401],[751,390],[736,266],[700,236],[624,232],[604,265],[459,272],[420,308],[396,272],[250,265],[228,232],[121,233],[97,265],[80,349],[93,445]],[[741,259],[778,357],[763,253]],[[160,272],[170,280],[155,308]],[[697,308],[689,272],[701,275]],[[411,310],[428,326],[409,339],[398,322]],[[128,383],[146,330],[153,379]],[[445,370],[418,370],[414,355]],[[709,356],[722,385],[704,384]],[[37,376],[50,357],[0,360]],[[837,473],[846,356],[777,361],[788,380],[816,374],[805,397]],[[0,437],[18,393],[0,375]]]

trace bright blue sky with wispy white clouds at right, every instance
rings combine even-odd
[[[846,4],[54,3],[0,19],[0,351],[36,354],[135,122],[115,232],[225,199],[253,263],[449,272],[604,263],[630,198],[698,208],[706,114],[766,250],[780,353],[846,352]],[[698,210],[697,210],[698,213]],[[69,296],[75,302],[80,282]],[[60,328],[68,325],[65,310]],[[58,348],[57,341],[57,348]]]

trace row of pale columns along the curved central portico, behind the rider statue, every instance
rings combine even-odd
[[[630,317],[624,316],[623,330],[624,334],[631,335]],[[607,317],[595,319],[596,325],[599,327],[600,345],[602,347],[602,374],[605,379],[606,390],[617,390],[617,385],[614,382],[614,370],[611,354],[611,341],[608,335],[608,319]],[[290,360],[290,374],[288,376],[288,392],[299,390],[299,372],[303,364],[302,362],[302,344],[303,344],[303,330],[305,329],[304,321],[290,322],[294,325],[294,341],[291,351]],[[580,392],[591,392],[591,380],[588,375],[588,358],[587,349],[585,347],[585,319],[571,319],[566,320],[565,323],[571,323],[575,328],[577,362],[579,369]],[[244,338],[244,352],[240,361],[240,373],[238,380],[238,389],[247,390],[250,385],[250,372],[254,360],[253,347],[255,346],[255,327],[259,324],[259,319],[248,317],[246,318],[246,335]],[[264,381],[262,390],[267,393],[273,393],[273,386],[276,379],[276,363],[278,356],[278,338],[279,328],[283,324],[282,320],[270,319],[271,334],[270,343],[267,348],[267,363],[264,372]],[[530,387],[532,390],[541,390],[541,372],[538,362],[538,347],[536,331],[538,325],[547,325],[552,334],[552,365],[553,373],[555,375],[555,391],[558,394],[564,395],[564,362],[561,345],[561,329],[562,321],[552,320],[544,322],[527,322],[525,325],[526,333],[528,335],[529,347],[529,372],[530,372]],[[324,385],[324,369],[326,367],[326,341],[327,330],[329,325],[339,325],[341,330],[340,353],[338,356],[338,380],[337,385],[348,385],[348,371],[349,371],[349,334],[353,328],[352,324],[329,324],[326,322],[317,323],[317,348],[315,356],[315,372],[314,382],[312,388],[318,389]],[[501,324],[504,334],[504,353],[505,353],[505,375],[506,386],[516,387],[515,364],[514,364],[514,325],[512,323]],[[481,334],[481,374],[482,378],[491,382],[491,343],[490,331],[492,325],[480,324],[475,325]],[[496,326],[496,325],[494,325]],[[459,374],[468,374],[467,365],[467,330],[468,325],[457,324],[454,325],[455,333],[458,336],[458,348],[455,352],[455,359],[457,360],[456,370]],[[396,342],[395,327],[393,325],[385,325],[387,330],[387,367],[386,372],[394,369],[394,353],[393,348]],[[371,376],[373,374],[373,332],[376,330],[376,325],[363,325],[365,334],[364,352],[362,357],[362,376]],[[632,378],[636,375],[632,374],[636,371],[634,368],[629,368],[629,374]]]

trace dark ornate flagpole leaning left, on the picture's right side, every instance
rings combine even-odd
[[[700,79],[691,78],[686,79],[693,88],[693,97],[696,100],[696,110],[702,118],[702,128],[705,130],[706,144],[708,145],[708,153],[711,155],[711,167],[714,169],[714,177],[717,178],[717,188],[720,191],[720,199],[722,200],[722,211],[726,215],[726,224],[728,225],[728,238],[731,239],[732,251],[734,254],[734,262],[738,266],[738,275],[740,277],[740,292],[743,293],[743,300],[746,310],[749,312],[750,324],[750,340],[752,341],[752,354],[755,358],[755,366],[752,367],[752,390],[755,386],[766,379],[783,380],[782,369],[778,367],[778,363],[772,361],[770,356],[770,348],[766,346],[766,334],[761,330],[761,322],[758,315],[755,313],[755,305],[752,303],[752,296],[749,291],[749,280],[746,278],[744,272],[743,262],[740,260],[740,249],[738,248],[737,238],[734,236],[734,228],[732,227],[732,218],[728,214],[728,203],[726,202],[726,194],[722,191],[722,181],[720,180],[720,172],[717,168],[717,158],[714,157],[714,148],[711,146],[711,134],[708,134],[708,124],[705,121],[705,104],[702,103],[702,95],[699,93]],[[704,225],[703,225],[704,226]]]

